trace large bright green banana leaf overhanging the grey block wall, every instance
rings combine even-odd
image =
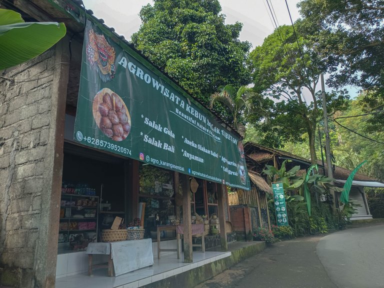
[[[63,23],[24,22],[19,13],[0,9],[0,70],[36,57],[65,33]]]

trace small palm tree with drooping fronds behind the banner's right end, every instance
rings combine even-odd
[[[231,85],[224,86],[221,91],[210,96],[210,108],[218,101],[228,108],[228,113],[232,118],[232,126],[242,136],[245,134],[245,126],[239,121],[239,117],[245,111],[251,113],[253,110],[253,100],[256,98],[252,88],[240,86],[237,90]]]

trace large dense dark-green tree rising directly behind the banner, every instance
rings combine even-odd
[[[242,24],[225,24],[218,0],[154,0],[143,6],[135,47],[206,105],[219,86],[249,83]]]

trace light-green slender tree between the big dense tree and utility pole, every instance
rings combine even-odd
[[[322,70],[310,42],[292,26],[280,26],[250,53],[249,67],[255,91],[274,99],[269,100],[268,117],[256,123],[264,133],[262,143],[279,147],[284,141],[301,142],[305,132],[311,161],[316,163],[315,131],[322,114],[316,86]],[[329,93],[328,112],[342,108],[345,97]],[[255,123],[259,116],[255,113],[249,120]]]

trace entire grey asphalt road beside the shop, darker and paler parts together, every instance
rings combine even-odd
[[[195,288],[384,287],[384,224],[276,242]]]

